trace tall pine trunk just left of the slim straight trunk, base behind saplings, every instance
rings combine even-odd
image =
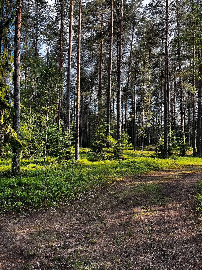
[[[74,0],[70,1],[69,7],[69,46],[68,46],[68,63],[67,63],[67,111],[66,111],[66,126],[68,137],[71,135],[70,123],[70,100],[71,100],[71,62],[72,62],[72,20],[73,20],[73,4]]]

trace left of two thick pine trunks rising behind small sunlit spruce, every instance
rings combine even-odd
[[[108,60],[108,85],[107,85],[107,119],[106,119],[107,135],[110,135],[110,115],[111,115],[113,12],[114,12],[114,1],[111,0],[110,35],[109,35],[109,60]]]

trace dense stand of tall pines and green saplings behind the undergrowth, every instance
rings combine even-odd
[[[13,171],[20,155],[69,158],[75,146],[78,160],[95,134],[118,151],[129,136],[134,150],[201,155],[201,7],[1,0],[0,152],[12,149]]]

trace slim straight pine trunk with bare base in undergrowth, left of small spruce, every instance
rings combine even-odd
[[[81,65],[80,55],[81,55],[81,0],[79,0],[78,41],[77,41],[75,160],[79,160],[80,65]]]

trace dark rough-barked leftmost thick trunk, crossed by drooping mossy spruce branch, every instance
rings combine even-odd
[[[20,131],[20,28],[21,28],[21,12],[22,0],[16,0],[16,15],[15,15],[15,32],[14,32],[14,90],[13,108],[15,114],[13,116],[13,129],[19,136]],[[20,151],[16,145],[12,147],[12,172],[17,173],[20,170]]]

